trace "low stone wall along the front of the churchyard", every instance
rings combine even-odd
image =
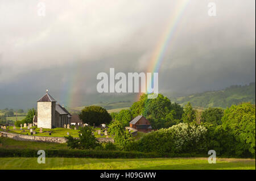
[[[16,134],[0,131],[1,137],[12,138],[18,141],[44,141],[44,142],[56,142],[59,144],[63,144],[67,142],[67,139],[64,137],[47,137],[47,136],[32,136],[32,135],[24,135],[24,134]],[[97,138],[100,142],[114,142],[113,138]]]

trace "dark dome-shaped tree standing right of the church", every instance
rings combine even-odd
[[[100,106],[88,106],[85,107],[79,114],[79,118],[84,123],[90,124],[108,124],[112,120],[112,117],[109,115],[108,111],[105,108]]]

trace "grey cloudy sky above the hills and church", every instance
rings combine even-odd
[[[216,16],[208,15],[209,2],[216,3]],[[79,99],[97,92],[98,73],[146,72],[179,4],[0,0],[0,108],[32,106],[46,89],[60,103],[82,106]],[[159,91],[192,93],[250,82],[255,1],[188,1],[163,55]]]

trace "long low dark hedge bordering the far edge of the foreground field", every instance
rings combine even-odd
[[[142,153],[137,151],[108,151],[108,150],[44,150],[46,157],[68,158],[171,158],[171,157],[205,157],[198,154],[169,154]],[[38,157],[35,149],[0,149],[0,157]],[[208,155],[209,156],[209,155]]]

